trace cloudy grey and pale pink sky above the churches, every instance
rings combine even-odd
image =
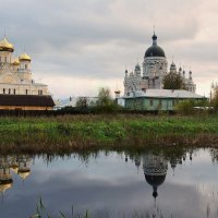
[[[0,0],[14,56],[32,57],[33,77],[55,98],[123,93],[125,66],[143,63],[155,25],[170,64],[192,70],[197,94],[218,81],[217,0]],[[169,66],[169,65],[168,65]]]

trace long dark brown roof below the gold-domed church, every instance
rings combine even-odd
[[[51,96],[39,95],[0,95],[0,106],[53,107]]]

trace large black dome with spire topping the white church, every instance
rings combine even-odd
[[[149,58],[149,57],[162,57],[162,58],[166,58],[165,56],[165,51],[162,50],[162,48],[160,48],[158,45],[157,45],[157,36],[153,35],[153,46],[150,46],[146,52],[145,52],[145,58]]]

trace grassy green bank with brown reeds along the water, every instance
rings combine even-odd
[[[0,153],[217,146],[218,116],[63,116],[0,118]]]

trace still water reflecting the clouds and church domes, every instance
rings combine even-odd
[[[0,157],[0,218],[46,210],[71,217],[218,217],[218,150],[99,152],[87,156]]]

